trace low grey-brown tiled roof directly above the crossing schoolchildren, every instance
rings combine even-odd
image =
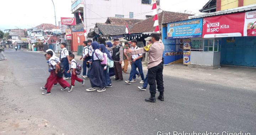
[[[126,26],[96,23],[96,27],[99,28],[104,36],[121,35],[126,33]],[[128,25],[128,29],[132,29],[132,26]]]

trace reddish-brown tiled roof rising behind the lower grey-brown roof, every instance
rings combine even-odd
[[[112,25],[134,25],[138,23],[140,19],[133,19],[133,18],[119,18],[119,17],[108,17],[105,23],[112,24]]]

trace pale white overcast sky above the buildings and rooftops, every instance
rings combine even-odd
[[[57,25],[60,17],[73,17],[71,0],[53,0]],[[160,8],[165,11],[198,13],[209,0],[161,0]],[[42,23],[55,25],[52,0],[1,0],[0,30],[32,28]]]

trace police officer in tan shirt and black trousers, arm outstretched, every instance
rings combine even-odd
[[[147,45],[143,48],[139,49],[127,49],[126,53],[140,54],[149,52],[149,60],[148,60],[148,83],[149,83],[149,91],[150,97],[146,98],[146,102],[155,103],[155,94],[156,94],[156,84],[159,91],[158,99],[160,101],[164,101],[164,81],[162,71],[164,69],[164,65],[162,64],[162,54],[164,52],[164,44],[160,41],[160,33],[152,33],[151,34],[152,45]]]

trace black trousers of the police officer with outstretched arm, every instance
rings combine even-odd
[[[159,92],[164,92],[164,81],[163,81],[163,72],[164,65],[160,63],[153,68],[148,69],[148,83],[149,91],[152,96],[155,96],[156,93],[156,84]]]

